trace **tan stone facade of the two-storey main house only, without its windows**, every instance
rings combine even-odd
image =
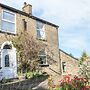
[[[47,22],[45,20],[39,19],[32,15],[32,6],[30,4],[24,3],[24,8],[22,11],[15,8],[0,4],[0,26],[2,25],[2,12],[3,10],[8,10],[15,13],[15,26],[16,33],[3,32],[0,29],[0,46],[8,41],[7,38],[18,35],[21,31],[24,31],[23,20],[27,22],[27,32],[30,33],[35,39],[37,39],[36,32],[36,21],[44,23],[45,30],[45,40],[42,40],[47,47],[54,53],[53,62],[49,62],[48,67],[42,67],[44,71],[49,74],[58,75],[60,74],[60,59],[59,59],[59,45],[58,45],[58,26]],[[48,54],[48,52],[47,52]],[[47,58],[48,59],[48,58]],[[55,73],[55,74],[54,74]]]

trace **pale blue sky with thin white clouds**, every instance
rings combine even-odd
[[[90,0],[0,0],[20,9],[27,2],[33,15],[59,25],[59,48],[75,57],[90,55]]]

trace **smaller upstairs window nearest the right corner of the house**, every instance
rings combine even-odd
[[[37,38],[45,39],[44,23],[37,21],[36,22],[36,30],[37,30]]]

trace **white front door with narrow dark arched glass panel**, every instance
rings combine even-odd
[[[15,78],[17,75],[17,62],[15,49],[3,49],[1,51],[1,67],[3,77]]]

